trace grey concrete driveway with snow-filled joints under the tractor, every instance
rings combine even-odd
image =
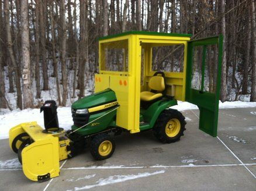
[[[0,190],[256,190],[256,108],[220,109],[218,137],[198,129],[198,110],[182,112],[185,136],[161,144],[152,131],[116,137],[116,151],[61,162],[48,182],[28,180],[8,140],[0,140]]]

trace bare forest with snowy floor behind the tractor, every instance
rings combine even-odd
[[[92,93],[98,37],[130,30],[223,34],[220,100],[256,102],[254,0],[1,0],[0,26],[0,108]]]

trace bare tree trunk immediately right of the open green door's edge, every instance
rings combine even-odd
[[[226,21],[225,21],[225,0],[220,0],[220,14],[223,15],[221,23],[220,23],[220,29],[223,35],[223,55],[222,55],[222,85],[220,88],[220,100],[224,102],[226,100],[227,95],[227,54],[226,54]]]

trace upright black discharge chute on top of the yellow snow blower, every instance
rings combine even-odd
[[[47,100],[40,108],[44,112],[44,128],[46,131],[58,131],[57,104],[54,100]]]

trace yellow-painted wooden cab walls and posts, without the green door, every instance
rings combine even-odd
[[[128,40],[128,68],[124,71],[105,71],[104,43],[118,43],[119,40]],[[179,36],[155,36],[146,34],[127,34],[126,36],[113,37],[112,39],[99,40],[99,74],[95,77],[102,77],[104,82],[95,81],[95,92],[110,88],[116,93],[117,102],[120,107],[117,109],[116,125],[130,130],[130,133],[140,131],[140,92],[149,91],[148,81],[154,75],[151,70],[152,48],[156,46],[171,46],[182,44],[184,46],[184,72],[164,72],[166,81],[172,88],[168,92],[174,92],[175,99],[185,100],[185,77],[186,77],[186,54],[187,41],[189,37]],[[144,62],[141,63],[141,48],[144,50]],[[141,64],[144,64],[141,71]],[[141,73],[142,72],[142,73]],[[143,74],[143,84],[141,84]],[[105,77],[103,77],[105,76]],[[123,81],[126,81],[124,86]],[[122,85],[120,85],[122,81]],[[174,88],[174,89],[173,89]]]

